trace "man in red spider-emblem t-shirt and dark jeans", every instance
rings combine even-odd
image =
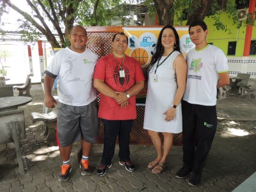
[[[104,124],[104,149],[97,175],[111,168],[116,137],[119,141],[119,164],[129,172],[131,163],[129,141],[132,122],[136,118],[136,94],[144,87],[144,76],[137,60],[125,55],[128,38],[116,33],[112,39],[113,53],[100,58],[93,75],[93,86],[100,92],[99,118]]]

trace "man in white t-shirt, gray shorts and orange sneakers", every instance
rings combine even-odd
[[[93,72],[98,56],[85,48],[87,33],[82,26],[74,26],[68,35],[70,47],[58,51],[45,70],[44,90],[45,106],[54,108],[57,104],[52,97],[52,85],[58,81],[58,138],[63,164],[58,177],[60,181],[68,180],[71,172],[70,152],[72,143],[80,141],[83,157],[80,161],[82,175],[89,175],[89,154],[92,143],[99,133],[97,96],[93,88]]]

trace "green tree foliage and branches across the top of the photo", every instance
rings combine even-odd
[[[20,32],[21,39],[24,42],[33,42],[38,40],[40,36],[46,36],[47,40],[51,43],[52,47],[66,47],[70,45],[68,41],[69,29],[75,24],[82,26],[109,26],[113,20],[121,20],[125,24],[125,20],[131,19],[127,17],[130,15],[129,6],[126,4],[138,4],[143,2],[148,6],[148,12],[151,18],[154,18],[156,13],[156,5],[154,2],[163,2],[163,0],[23,0],[29,4],[28,12],[20,10],[10,0],[0,1],[0,34],[5,35],[1,30],[3,14],[10,12],[10,9],[15,10],[22,15],[20,19],[20,26],[17,31]],[[211,2],[211,9],[205,17],[214,19],[214,26],[216,29],[227,31],[228,25],[221,22],[221,12],[227,12],[228,17],[232,20],[237,28],[241,28],[243,24],[252,24],[253,21],[250,14],[246,22],[241,22],[237,19],[237,9],[234,0],[227,1],[225,10],[220,7],[217,0]],[[167,1],[166,1],[167,2]],[[169,2],[169,1],[168,1]],[[209,3],[210,1],[205,1]],[[246,0],[240,0],[240,3],[245,3]],[[178,24],[184,24],[191,15],[198,14],[195,10],[202,6],[200,0],[180,0],[174,1],[172,8],[169,10],[169,17],[177,18]]]

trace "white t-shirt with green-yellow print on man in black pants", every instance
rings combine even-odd
[[[227,57],[221,49],[209,44],[199,51],[191,49],[186,61],[188,74],[183,100],[191,104],[215,106],[218,73],[228,71]]]

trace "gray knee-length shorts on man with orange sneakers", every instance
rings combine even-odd
[[[97,99],[87,106],[69,106],[59,102],[57,123],[61,147],[72,145],[81,138],[95,143],[99,134]]]

